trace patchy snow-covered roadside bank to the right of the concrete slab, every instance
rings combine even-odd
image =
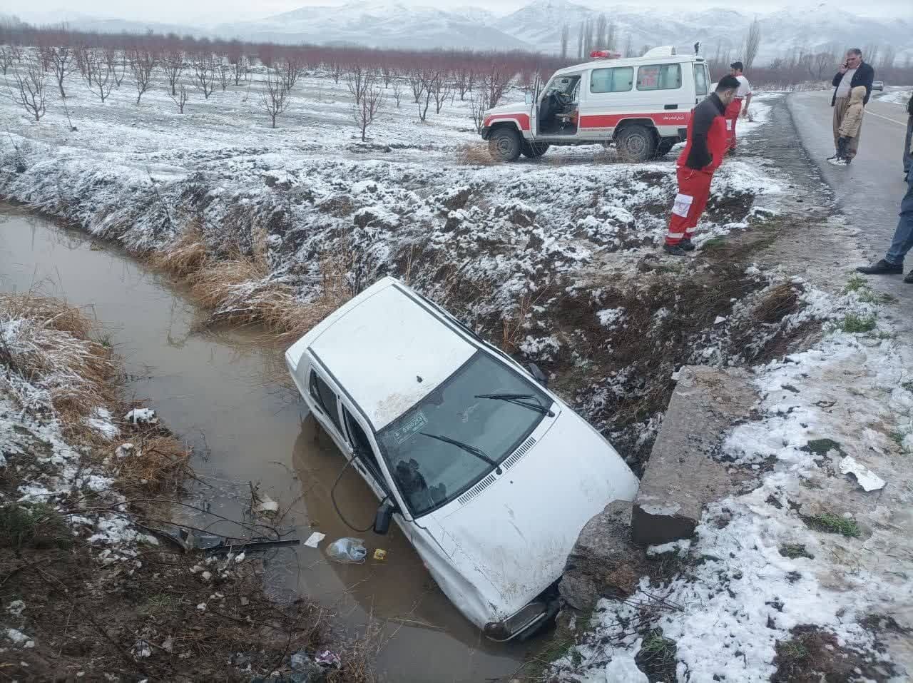
[[[906,578],[913,538],[903,531],[913,503],[913,460],[905,452],[913,359],[883,323],[866,334],[842,331],[848,317],[876,320],[872,304],[853,294],[815,298],[819,310],[830,311],[832,331],[808,351],[754,370],[761,418],[735,426],[724,447],[732,468],[763,464],[769,471],[756,488],[708,506],[677,579],[643,579],[624,603],[601,601],[588,645],[576,648],[582,665],[569,656],[558,671],[612,680],[604,662],[613,651],[600,642],[624,631],[637,604],[660,595],[679,607],[657,610],[654,623],[675,642],[679,681],[771,680],[777,644],[799,625],[816,625],[845,650],[863,653],[884,674],[879,680],[913,673],[904,670],[909,661],[891,661],[880,643],[887,636],[873,632],[870,621],[890,615],[898,629],[913,627]],[[843,475],[846,456],[885,478],[885,489],[866,493]],[[632,634],[614,646],[629,652],[639,644]]]

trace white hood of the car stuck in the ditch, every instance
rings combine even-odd
[[[637,486],[614,448],[563,410],[495,484],[436,516],[493,585],[493,616],[506,618],[561,576],[583,525],[613,500],[633,500]]]

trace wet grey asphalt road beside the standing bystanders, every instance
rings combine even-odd
[[[849,166],[833,166],[831,91],[793,93],[787,103],[806,152],[834,190],[837,205],[859,229],[859,247],[871,260],[884,256],[897,227],[900,199],[907,191],[901,152],[907,134],[907,111],[901,105],[870,100],[859,138],[859,151]],[[861,264],[846,264],[847,269]],[[913,253],[906,268],[913,268]],[[908,301],[913,285],[900,276],[877,278],[877,289]]]

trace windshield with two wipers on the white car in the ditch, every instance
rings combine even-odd
[[[505,400],[477,398],[480,394],[513,395]],[[529,398],[518,399],[517,394]],[[443,505],[488,475],[493,467],[487,458],[500,463],[513,453],[545,416],[530,405],[548,408],[551,398],[488,353],[476,352],[446,382],[384,427],[378,442],[413,514]]]

